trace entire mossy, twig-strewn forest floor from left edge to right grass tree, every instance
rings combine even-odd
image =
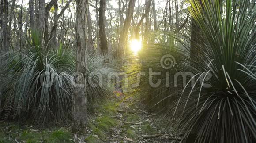
[[[72,134],[72,124],[34,128],[0,122],[0,143],[177,143],[180,139],[156,127],[157,113],[149,113],[134,97],[116,97],[95,107],[86,134]]]

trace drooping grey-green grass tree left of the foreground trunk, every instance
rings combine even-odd
[[[75,68],[72,50],[45,50],[41,46],[10,51],[1,57],[1,67],[12,80],[6,81],[14,98],[11,106],[19,120],[35,125],[66,122],[72,115],[71,99]],[[8,103],[5,103],[8,104]]]

